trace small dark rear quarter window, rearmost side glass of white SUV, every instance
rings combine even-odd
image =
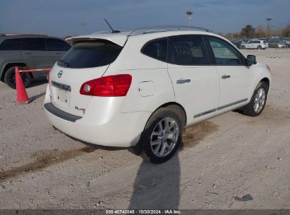
[[[141,52],[149,57],[167,61],[167,38],[149,42],[142,48]]]

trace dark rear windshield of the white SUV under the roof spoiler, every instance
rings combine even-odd
[[[68,68],[91,68],[114,62],[122,47],[107,40],[81,41],[71,47],[57,62]]]

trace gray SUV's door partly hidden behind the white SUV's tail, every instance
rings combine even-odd
[[[54,63],[57,62],[61,57],[71,48],[64,40],[59,40],[56,38],[45,39],[49,51],[53,54]]]

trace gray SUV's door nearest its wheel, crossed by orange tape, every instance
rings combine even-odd
[[[24,38],[21,50],[23,62],[28,64],[29,69],[44,69],[53,66],[53,55],[47,50],[44,38]],[[46,71],[33,72],[35,78],[45,78]]]

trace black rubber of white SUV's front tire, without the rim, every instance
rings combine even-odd
[[[268,88],[269,88],[269,86],[267,85],[267,83],[265,81],[261,81],[258,84],[258,86],[255,88],[255,91],[252,95],[252,98],[250,99],[250,103],[248,103],[248,105],[246,105],[245,107],[241,108],[243,115],[247,115],[250,117],[257,117],[258,115],[261,114],[261,112],[264,110],[266,102],[267,102]],[[256,97],[258,91],[260,91],[260,89],[262,89],[265,92],[265,101],[264,101],[261,109],[255,110],[255,103],[257,103],[257,101],[255,102],[255,97]]]

